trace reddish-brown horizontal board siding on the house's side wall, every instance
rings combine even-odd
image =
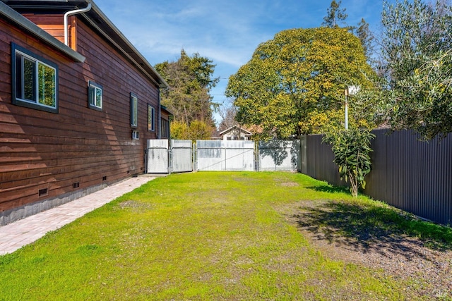
[[[85,63],[0,20],[0,211],[145,170],[145,142],[157,133],[157,124],[148,131],[148,104],[158,107],[157,87],[88,25],[78,20],[77,30]],[[11,104],[11,42],[57,63],[59,113]],[[102,85],[102,111],[88,108],[88,80]],[[131,137],[130,92],[138,96],[139,140]],[[48,195],[38,197],[43,188]]]

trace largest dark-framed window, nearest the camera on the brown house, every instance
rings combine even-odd
[[[58,66],[11,43],[12,103],[58,113]]]

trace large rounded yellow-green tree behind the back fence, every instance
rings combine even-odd
[[[342,127],[345,88],[366,91],[373,77],[359,39],[346,29],[292,29],[260,44],[230,77],[226,94],[234,98],[239,123],[286,138]],[[367,123],[372,106],[364,113],[350,102],[351,123]]]

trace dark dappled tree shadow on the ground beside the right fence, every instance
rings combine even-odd
[[[326,191],[315,187],[316,191]],[[332,189],[340,191],[340,188]],[[354,202],[325,202],[321,206],[303,210],[300,225],[311,231],[323,231],[331,242],[333,236],[352,238],[369,247],[374,240],[391,240],[393,235],[419,238],[433,250],[452,250],[452,229],[422,221],[412,214],[395,209],[383,202],[359,199]],[[396,247],[396,246],[395,246]]]

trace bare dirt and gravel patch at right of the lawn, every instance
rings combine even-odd
[[[378,208],[303,201],[277,209],[324,256],[381,269],[420,297],[452,300],[450,244],[407,235]]]

